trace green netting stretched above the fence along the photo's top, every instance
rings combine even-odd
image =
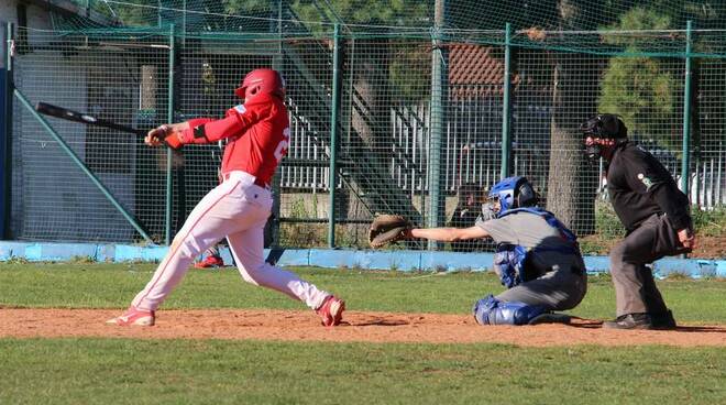
[[[163,30],[186,35],[278,33],[326,35],[333,24],[359,37],[395,35],[487,41],[486,31],[510,23],[520,46],[593,53],[682,55],[686,21],[693,52],[724,53],[726,3],[721,1],[374,1],[374,0],[75,0],[80,15],[58,17],[58,30]],[[436,10],[440,12],[437,14]],[[92,18],[95,17],[95,18]],[[435,22],[438,21],[437,24]],[[436,31],[435,31],[436,28]],[[491,39],[497,41],[496,39]],[[498,44],[503,43],[499,37]]]

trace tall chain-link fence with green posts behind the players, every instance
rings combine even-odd
[[[255,67],[280,70],[287,85],[292,136],[271,220],[285,247],[363,247],[376,212],[471,226],[503,175],[527,176],[579,234],[600,232],[604,168],[585,162],[578,131],[597,111],[622,114],[636,142],[679,182],[685,174],[694,205],[726,204],[726,41],[713,30],[332,31],[302,24],[308,9],[277,7],[280,19],[244,33],[16,29],[11,238],[165,242],[217,184],[223,147],[170,154],[46,118],[74,161],[21,97],[147,129],[221,117]],[[218,22],[238,26],[230,21]],[[660,53],[644,51],[653,43]]]

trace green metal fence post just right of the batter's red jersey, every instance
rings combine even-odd
[[[340,24],[333,33],[332,108],[330,109],[330,207],[328,221],[328,247],[336,248],[336,188],[338,186],[338,117],[340,110]]]

